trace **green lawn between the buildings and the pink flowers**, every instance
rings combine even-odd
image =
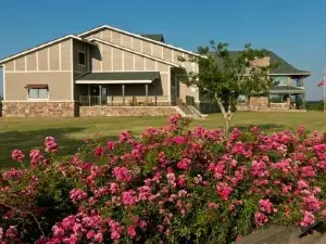
[[[0,167],[13,163],[13,149],[30,150],[41,146],[43,138],[55,137],[62,153],[68,154],[80,145],[82,140],[95,134],[116,139],[121,130],[141,132],[147,127],[166,125],[166,117],[96,117],[96,118],[0,118]],[[218,128],[222,115],[210,115],[204,120],[195,120],[192,127]],[[304,125],[308,130],[326,131],[326,113],[236,113],[233,127],[260,126],[266,132],[290,129]],[[26,152],[27,155],[27,152]]]

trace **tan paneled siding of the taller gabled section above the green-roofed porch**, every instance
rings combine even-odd
[[[147,41],[137,37],[129,36],[127,34],[118,33],[111,29],[99,30],[97,33],[91,33],[87,37],[97,37],[108,42],[141,52],[147,55],[151,55],[156,59],[161,59],[171,63],[180,65],[186,69],[186,72],[197,72],[197,65],[190,62],[178,61],[179,56],[189,57],[188,53],[181,52],[179,50],[161,46],[152,41]],[[154,61],[152,59],[143,57],[138,54],[130,53],[128,51],[123,51],[117,48],[113,48],[103,43],[98,43],[98,51],[101,54],[96,54],[97,57],[92,57],[92,67],[96,72],[112,72],[112,70],[159,70],[161,74],[162,91],[164,95],[168,95],[168,87],[171,86],[171,74],[170,65],[162,62]],[[159,85],[161,86],[161,85]],[[184,101],[186,95],[192,95],[196,101],[199,101],[199,92],[196,89],[188,88],[184,84],[179,84],[179,98]]]

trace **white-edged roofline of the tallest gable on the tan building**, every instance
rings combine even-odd
[[[185,49],[181,49],[181,48],[177,48],[177,47],[174,47],[172,44],[166,44],[164,42],[160,42],[160,41],[156,41],[156,40],[153,40],[153,39],[150,39],[150,38],[147,38],[147,37],[143,37],[141,35],[137,35],[137,34],[133,34],[133,33],[129,33],[129,31],[125,31],[125,30],[122,30],[122,29],[118,29],[118,28],[115,28],[115,27],[112,27],[112,26],[109,26],[109,25],[102,25],[102,26],[99,26],[99,27],[96,27],[93,29],[90,29],[88,31],[85,31],[83,34],[79,34],[78,36],[79,37],[85,37],[86,35],[89,35],[91,33],[95,33],[95,31],[98,31],[98,30],[102,30],[102,29],[110,29],[110,30],[114,30],[114,31],[117,31],[117,33],[122,33],[122,34],[126,34],[128,36],[131,36],[131,37],[137,37],[139,39],[142,39],[142,40],[147,40],[149,42],[153,42],[153,43],[156,43],[156,44],[160,44],[162,47],[166,47],[166,48],[170,48],[170,49],[174,49],[174,50],[177,50],[177,51],[180,51],[180,52],[184,52],[184,53],[188,53],[190,55],[197,55],[199,56],[198,53],[195,53],[195,52],[191,52],[191,51],[187,51]]]

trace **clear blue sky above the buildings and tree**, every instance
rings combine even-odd
[[[324,0],[3,1],[0,59],[102,24],[138,34],[162,33],[166,42],[191,51],[212,39],[228,42],[233,50],[246,42],[267,48],[311,70],[308,99],[322,98],[316,84],[326,68]]]

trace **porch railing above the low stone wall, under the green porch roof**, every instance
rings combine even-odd
[[[170,106],[168,95],[79,95],[80,106]]]

